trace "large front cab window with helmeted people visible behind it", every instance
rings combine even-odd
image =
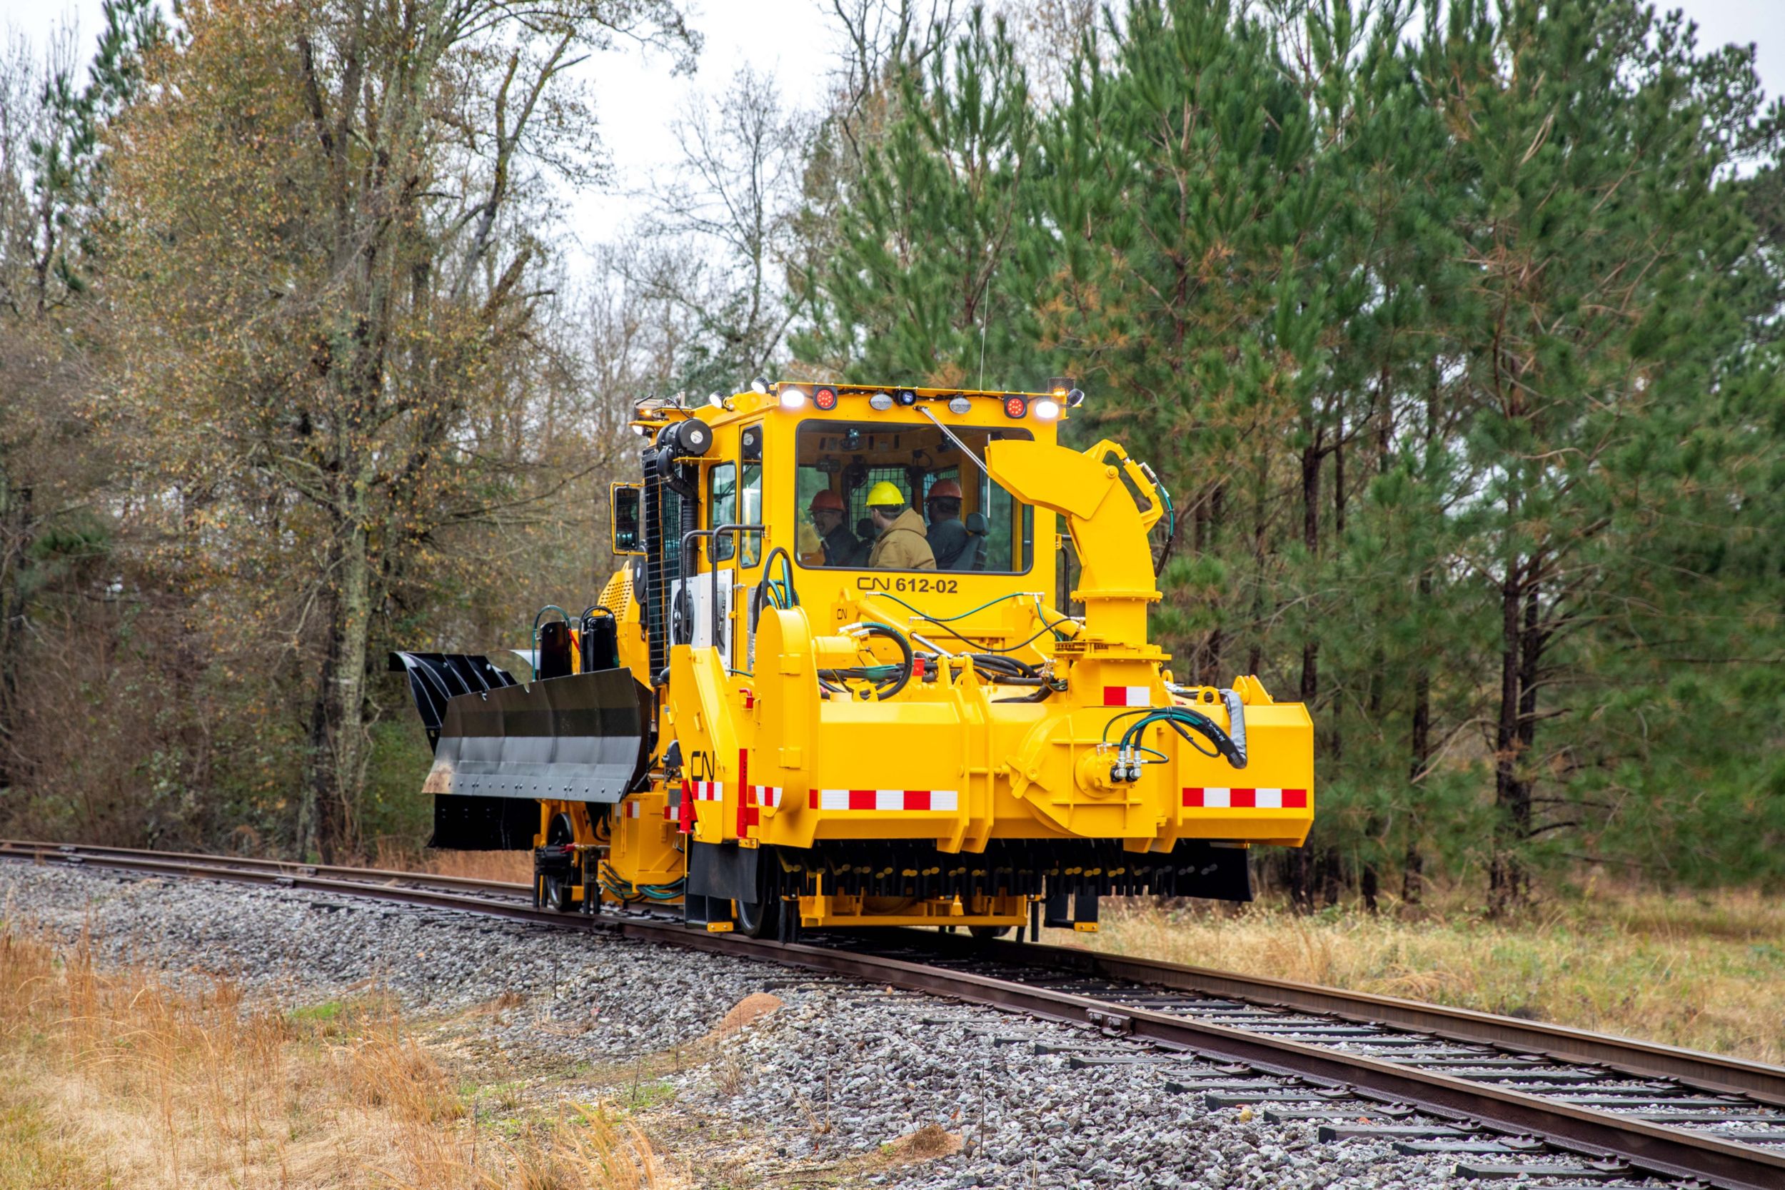
[[[1034,437],[1016,428],[950,430],[978,459],[987,442]],[[934,425],[807,421],[796,466],[803,566],[932,569],[934,562],[937,571],[1021,574],[1034,560],[1035,510]],[[878,523],[869,505],[880,508]]]

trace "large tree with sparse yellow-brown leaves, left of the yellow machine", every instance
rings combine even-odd
[[[368,651],[405,555],[511,496],[475,421],[527,344],[539,169],[578,162],[580,54],[691,52],[669,0],[207,0],[116,139],[154,496],[314,674],[296,842],[353,842]],[[148,312],[154,310],[154,318]],[[277,598],[273,598],[277,596]]]

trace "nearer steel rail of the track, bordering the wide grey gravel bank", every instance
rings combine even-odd
[[[1785,1151],[1746,1145],[1724,1136],[1667,1128],[1648,1120],[1557,1103],[1507,1087],[1473,1083],[1448,1074],[1364,1058],[1282,1037],[1180,1017],[1150,1008],[1098,1001],[1028,983],[912,963],[901,958],[857,951],[760,942],[734,933],[685,930],[680,922],[635,913],[557,913],[530,903],[493,901],[461,892],[396,883],[353,881],[309,874],[309,865],[234,865],[228,856],[148,856],[121,847],[89,853],[64,851],[61,844],[0,842],[0,858],[62,860],[79,867],[177,874],[225,880],[259,887],[305,888],[350,897],[461,910],[507,917],[550,928],[607,931],[648,942],[668,942],[693,951],[768,960],[785,967],[841,974],[934,996],[992,1004],[1055,1021],[1091,1024],[1105,1031],[1187,1049],[1225,1062],[1241,1062],[1262,1072],[1326,1083],[1366,1099],[1408,1103],[1446,1117],[1467,1117],[1489,1129],[1537,1135],[1558,1147],[1594,1156],[1615,1156],[1637,1170],[1669,1178],[1703,1179],[1728,1190],[1778,1190],[1785,1186]],[[209,864],[205,864],[209,860]],[[337,869],[345,872],[364,869]],[[378,872],[393,876],[393,872]],[[430,878],[394,872],[419,883]],[[493,881],[484,881],[493,883]],[[516,885],[507,885],[514,890]],[[1037,947],[1042,949],[1042,947]],[[1059,949],[1059,947],[1046,947]],[[1085,953],[1071,953],[1083,956]]]

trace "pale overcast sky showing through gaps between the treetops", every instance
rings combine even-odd
[[[785,79],[793,102],[816,98],[835,46],[823,0],[693,0],[693,25],[705,34],[694,79],[671,77],[669,57],[623,45],[587,62],[596,79],[602,139],[612,161],[605,193],[568,196],[568,230],[585,244],[616,237],[637,200],[628,191],[673,161],[671,121],[693,87],[721,89],[741,66]],[[1758,46],[1767,95],[1785,93],[1785,0],[1658,0],[1685,9],[1699,25],[1699,48],[1740,41]],[[75,21],[82,46],[91,46],[100,0],[0,0],[0,23],[37,41],[62,21]]]

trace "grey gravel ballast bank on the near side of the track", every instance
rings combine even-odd
[[[368,983],[430,1017],[518,997],[478,1028],[514,1051],[548,1042],[566,1069],[691,1047],[698,1063],[666,1076],[673,1103],[639,1119],[659,1138],[659,1124],[684,1138],[684,1126],[705,1122],[705,1142],[730,1147],[726,1185],[809,1181],[837,1163],[843,1185],[937,1190],[1469,1185],[1453,1176],[1455,1158],[1405,1156],[1378,1140],[1321,1144],[1317,1120],[1266,1122],[1258,1111],[1242,1122],[1235,1108],[1169,1092],[1167,1079],[1233,1078],[1194,1058],[721,954],[316,892],[11,862],[0,864],[0,910],[12,928],[64,940],[91,928],[102,965],[141,963],[173,979],[227,974],[289,1004]],[[760,992],[782,1006],[709,1037]],[[1123,1053],[1137,1060],[1071,1062]],[[950,1133],[941,1156],[875,1163],[925,1126]],[[677,1160],[678,1144],[664,1149]],[[705,1181],[698,1161],[694,1176]]]

